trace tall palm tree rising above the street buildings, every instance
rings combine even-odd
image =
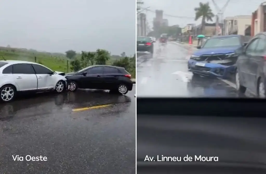
[[[202,34],[204,33],[204,29],[205,29],[205,21],[213,21],[213,17],[214,14],[209,6],[209,2],[207,3],[202,3],[200,2],[199,7],[194,8],[195,10],[195,20],[198,20],[199,18],[202,17],[202,21],[201,21],[201,26],[202,26]]]

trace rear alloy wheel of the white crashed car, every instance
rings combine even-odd
[[[16,88],[13,85],[4,85],[0,88],[0,94],[2,102],[10,102],[15,98]]]

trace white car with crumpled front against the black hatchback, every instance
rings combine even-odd
[[[66,78],[51,69],[34,62],[0,61],[0,101],[13,100],[18,92],[42,92],[66,90]]]

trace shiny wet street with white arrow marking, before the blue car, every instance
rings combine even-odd
[[[137,96],[140,97],[254,97],[239,96],[234,82],[193,76],[187,61],[196,48],[176,42],[154,44],[153,56],[137,53]]]

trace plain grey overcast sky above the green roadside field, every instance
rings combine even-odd
[[[134,0],[1,0],[0,46],[135,52]]]

